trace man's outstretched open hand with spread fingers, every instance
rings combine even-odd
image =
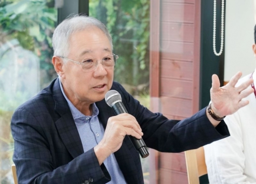
[[[236,86],[241,75],[241,72],[236,73],[229,83],[223,87],[220,87],[218,76],[212,75],[212,88],[210,89],[212,110],[219,117],[233,114],[249,103],[249,101],[242,99],[253,93],[254,90],[249,87],[253,83],[253,79],[248,79],[241,85]]]

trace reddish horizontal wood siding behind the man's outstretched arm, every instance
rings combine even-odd
[[[151,106],[168,119],[184,119],[199,108],[201,1],[151,2]],[[154,156],[157,176],[150,184],[188,184],[184,153]]]

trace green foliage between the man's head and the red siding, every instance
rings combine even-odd
[[[106,24],[119,55],[115,80],[135,86],[149,79],[149,0],[91,0],[89,15]],[[136,93],[135,93],[136,94]]]

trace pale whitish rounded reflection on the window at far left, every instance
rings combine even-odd
[[[0,47],[0,108],[14,111],[39,91],[39,57],[17,39]]]

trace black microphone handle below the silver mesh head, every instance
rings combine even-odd
[[[116,113],[116,115],[119,115],[122,113],[128,113],[128,111],[126,110],[126,108],[124,107],[124,104],[122,102],[115,103],[114,105],[112,105],[112,108],[113,108],[114,112]],[[138,139],[131,135],[129,135],[128,137],[132,141],[136,150],[140,153],[140,156],[142,158],[146,158],[149,155],[149,153],[146,148],[146,144],[145,144],[144,140],[142,138]]]

